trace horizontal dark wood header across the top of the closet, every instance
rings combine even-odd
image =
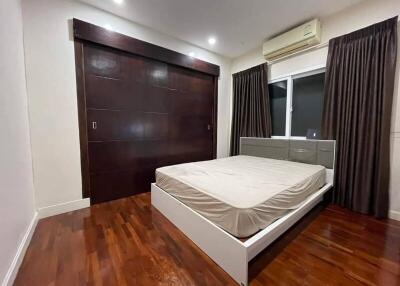
[[[213,76],[219,76],[219,66],[184,54],[140,41],[99,26],[73,19],[74,38],[155,59]]]

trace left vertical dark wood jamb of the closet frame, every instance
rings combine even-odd
[[[86,119],[86,95],[85,95],[85,75],[84,75],[84,55],[83,43],[75,40],[75,71],[76,71],[76,91],[78,102],[79,120],[79,141],[81,147],[81,173],[82,173],[82,196],[90,197],[90,174],[89,174],[89,154],[88,154],[88,135]]]

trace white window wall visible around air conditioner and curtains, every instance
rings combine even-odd
[[[340,36],[345,33],[366,27],[373,23],[394,17],[400,14],[400,1],[398,0],[369,0],[361,2],[346,10],[340,11],[322,20],[322,43],[326,43],[332,37]],[[400,28],[399,28],[400,33]],[[400,34],[399,34],[400,39]],[[400,42],[400,41],[399,41]],[[232,62],[232,73],[247,69],[254,65],[264,62],[261,46]],[[280,62],[276,62],[269,67],[269,77],[277,78],[293,72],[301,71],[314,66],[326,64],[328,48],[321,48],[300,54]],[[393,102],[392,120],[392,148],[391,148],[391,216],[400,219],[400,87],[399,87],[399,67],[400,67],[400,44],[398,51],[398,63],[396,73],[396,83]]]

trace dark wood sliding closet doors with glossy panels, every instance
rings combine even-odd
[[[155,169],[213,158],[214,77],[83,45],[92,203],[150,190]]]

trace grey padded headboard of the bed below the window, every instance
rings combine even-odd
[[[333,169],[335,165],[335,140],[241,137],[240,154],[322,165],[327,169]]]

